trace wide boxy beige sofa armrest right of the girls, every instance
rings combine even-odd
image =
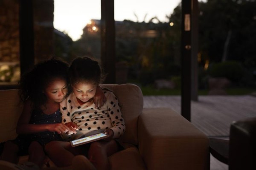
[[[209,170],[209,140],[170,108],[144,108],[138,147],[148,170]]]

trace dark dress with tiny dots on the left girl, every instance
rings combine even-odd
[[[34,110],[32,111],[29,121],[29,124],[35,125],[55,123],[61,123],[61,112],[59,109],[49,115],[44,114],[41,110]],[[62,140],[60,134],[56,132],[44,131],[29,135],[18,135],[16,139],[12,140],[12,142],[17,144],[17,146],[19,147],[19,155],[26,155],[28,154],[28,148],[31,142],[36,141],[44,147],[45,144],[54,140]]]

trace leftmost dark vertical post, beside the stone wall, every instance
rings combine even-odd
[[[19,0],[20,75],[34,65],[33,0]]]

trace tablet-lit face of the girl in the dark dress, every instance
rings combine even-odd
[[[67,94],[67,82],[60,78],[54,79],[49,82],[44,93],[47,96],[47,101],[59,103]]]

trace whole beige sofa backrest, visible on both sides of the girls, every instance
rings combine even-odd
[[[143,94],[134,84],[104,84],[119,100],[126,131],[122,141],[137,144],[137,121],[143,110]],[[16,89],[0,90],[0,142],[15,139],[16,125],[22,111],[20,98]]]

